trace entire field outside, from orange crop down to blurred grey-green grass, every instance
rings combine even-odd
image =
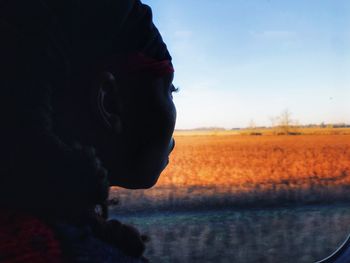
[[[156,187],[111,191],[154,262],[312,262],[350,232],[350,135],[175,140]]]

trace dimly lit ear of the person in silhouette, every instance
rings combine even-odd
[[[106,129],[116,133],[122,130],[119,94],[117,81],[111,72],[102,72],[93,81],[91,103],[94,115]]]

